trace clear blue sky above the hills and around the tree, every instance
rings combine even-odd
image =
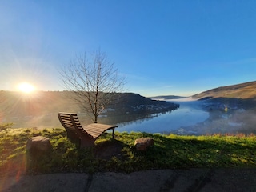
[[[63,90],[58,68],[99,48],[143,96],[256,80],[256,1],[0,2],[0,90]]]

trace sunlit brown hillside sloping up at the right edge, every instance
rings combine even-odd
[[[200,94],[194,94],[193,98],[256,98],[256,81],[244,82],[232,86],[220,86],[212,90],[206,90]]]

